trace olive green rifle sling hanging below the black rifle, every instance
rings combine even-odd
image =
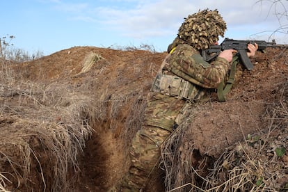
[[[232,88],[233,83],[234,83],[236,67],[237,67],[238,63],[239,63],[238,56],[234,56],[233,61],[232,61],[232,65],[231,65],[229,78],[226,82],[226,85],[224,83],[224,80],[218,85],[217,96],[218,96],[219,102],[225,102],[226,101],[226,94],[230,91],[230,89]]]

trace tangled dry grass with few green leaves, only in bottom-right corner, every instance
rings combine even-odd
[[[267,106],[269,127],[248,135],[245,141],[230,147],[207,175],[208,191],[286,191],[288,189],[287,82],[280,100]]]

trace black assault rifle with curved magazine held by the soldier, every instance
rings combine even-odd
[[[264,40],[233,40],[225,38],[221,45],[211,45],[208,49],[202,49],[201,54],[204,60],[208,62],[216,58],[216,56],[218,56],[221,51],[225,49],[235,49],[237,50],[237,54],[239,54],[239,58],[246,69],[252,70],[254,66],[247,56],[247,46],[249,43],[257,43],[258,51],[264,51],[264,49],[267,47],[288,47],[288,45],[276,45],[275,40],[272,40],[272,42],[266,42]]]

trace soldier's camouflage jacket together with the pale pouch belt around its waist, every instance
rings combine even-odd
[[[217,88],[229,68],[230,64],[224,58],[207,63],[199,51],[180,44],[163,61],[160,75],[156,77],[159,83],[154,81],[152,91],[180,99],[201,99],[207,89]]]

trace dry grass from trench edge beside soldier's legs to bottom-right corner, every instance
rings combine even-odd
[[[286,84],[280,99],[267,105],[269,127],[227,147],[218,159],[200,154],[184,138],[187,122],[178,127],[161,149],[167,191],[287,191]]]

